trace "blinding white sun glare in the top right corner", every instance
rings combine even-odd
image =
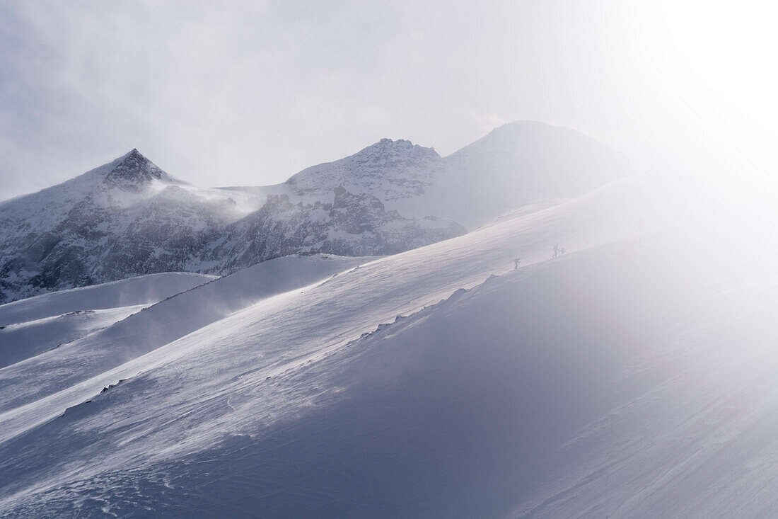
[[[692,161],[762,180],[776,167],[778,118],[776,8],[766,4],[630,2],[619,34],[628,42],[633,87],[650,100],[643,116],[655,129],[666,127]]]

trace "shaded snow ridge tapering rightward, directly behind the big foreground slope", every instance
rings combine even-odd
[[[181,291],[145,309],[133,307],[130,312],[117,309],[117,312],[126,312],[125,319],[114,320],[109,323],[111,326],[96,333],[81,334],[78,340],[61,341],[65,344],[56,349],[34,357],[27,355],[23,357],[29,357],[26,362],[0,369],[0,412],[47,397],[62,387],[89,380],[263,298],[323,281],[370,260],[373,258],[288,256],[258,263]],[[38,322],[30,325],[35,323]],[[0,338],[3,337],[2,331]],[[40,331],[32,334],[40,340]],[[9,337],[9,340],[12,338]],[[15,346],[19,349],[20,344]],[[30,378],[30,372],[37,374]]]

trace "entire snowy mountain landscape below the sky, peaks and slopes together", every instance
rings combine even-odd
[[[702,180],[513,122],[7,200],[0,517],[773,517],[771,220]]]

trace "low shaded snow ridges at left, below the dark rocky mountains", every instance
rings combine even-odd
[[[59,341],[55,344],[57,348],[46,348],[51,345],[44,335],[50,320],[35,320],[0,330],[0,339],[3,339],[0,344],[12,348],[6,356],[11,357],[11,353],[16,355],[15,362],[4,362],[7,367],[0,369],[0,412],[47,397],[62,387],[89,380],[263,298],[325,280],[372,259],[318,254],[286,256],[216,279],[199,274],[156,274],[150,279],[132,278],[126,282],[76,288],[2,305],[0,312],[5,306],[22,306],[35,312],[67,308],[67,314],[54,318],[58,322],[63,318],[72,320],[73,316],[93,315],[93,311],[83,312],[82,309],[100,307],[110,300],[127,302],[147,298],[143,288],[148,281],[157,288],[157,295],[168,293],[163,290],[164,281],[171,278],[184,277],[202,282],[190,288],[190,281],[180,286],[180,291],[161,301],[157,299],[146,305],[120,307],[113,313],[103,310],[100,316],[123,318],[110,323],[103,318],[100,321],[102,327],[84,330],[68,341]],[[171,288],[170,283],[167,288]],[[26,332],[25,341],[19,340],[19,331]]]

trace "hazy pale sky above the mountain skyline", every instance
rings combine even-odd
[[[137,147],[282,182],[387,136],[568,125],[637,168],[772,155],[768,2],[0,0],[0,199]],[[763,156],[763,157],[762,157]]]

